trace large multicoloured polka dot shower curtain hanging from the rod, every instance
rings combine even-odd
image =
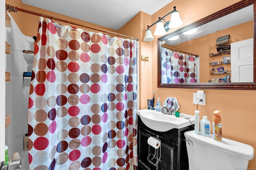
[[[137,169],[137,46],[40,18],[28,106],[30,170]]]

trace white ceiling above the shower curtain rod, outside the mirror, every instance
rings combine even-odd
[[[120,29],[138,12],[154,14],[172,0],[22,0],[22,3],[112,29]]]

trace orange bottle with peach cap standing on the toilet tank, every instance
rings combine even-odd
[[[216,141],[221,141],[222,123],[220,117],[220,110],[215,110],[212,118],[212,136]]]

